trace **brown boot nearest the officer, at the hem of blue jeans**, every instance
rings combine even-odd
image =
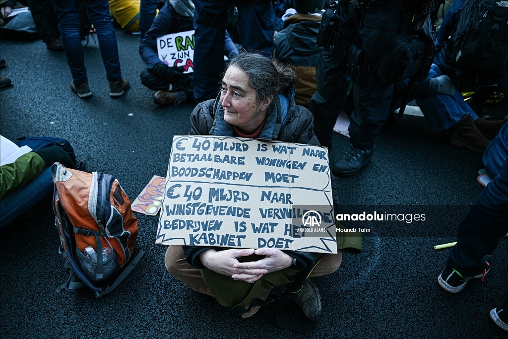
[[[453,127],[450,143],[458,147],[466,147],[478,153],[485,152],[489,140],[474,126],[471,116],[467,114]]]

